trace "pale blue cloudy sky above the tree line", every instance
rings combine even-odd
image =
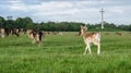
[[[131,24],[131,0],[0,0],[0,16],[29,16],[34,22]]]

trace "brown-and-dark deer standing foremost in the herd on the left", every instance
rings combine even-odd
[[[32,39],[32,44],[38,42],[38,47],[43,45],[43,32],[36,32],[35,29],[27,29],[27,36]]]

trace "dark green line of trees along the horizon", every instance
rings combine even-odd
[[[81,25],[86,25],[88,31],[104,31],[104,32],[116,32],[116,31],[129,31],[131,32],[130,25],[116,25],[114,23],[104,22],[104,28],[100,28],[98,24],[85,24],[78,22],[40,22],[35,23],[31,17],[17,17],[16,20],[0,16],[0,28],[23,28],[24,31],[33,28],[36,31],[48,31],[48,32],[79,32]]]

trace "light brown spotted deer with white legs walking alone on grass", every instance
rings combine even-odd
[[[97,46],[97,54],[100,53],[100,33],[91,33],[86,34],[86,26],[81,26],[81,36],[83,36],[84,42],[86,45],[85,51],[83,54],[86,53],[86,51],[90,51],[90,54],[92,53],[91,51],[91,44],[94,44]]]

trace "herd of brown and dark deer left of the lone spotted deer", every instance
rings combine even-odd
[[[38,42],[38,47],[43,46],[41,44],[44,35],[62,35],[60,32],[38,32],[35,29],[27,29],[24,32],[23,28],[0,28],[0,36],[2,38],[9,35],[16,35],[19,37],[22,33],[27,34],[27,36],[32,39],[32,44]]]

